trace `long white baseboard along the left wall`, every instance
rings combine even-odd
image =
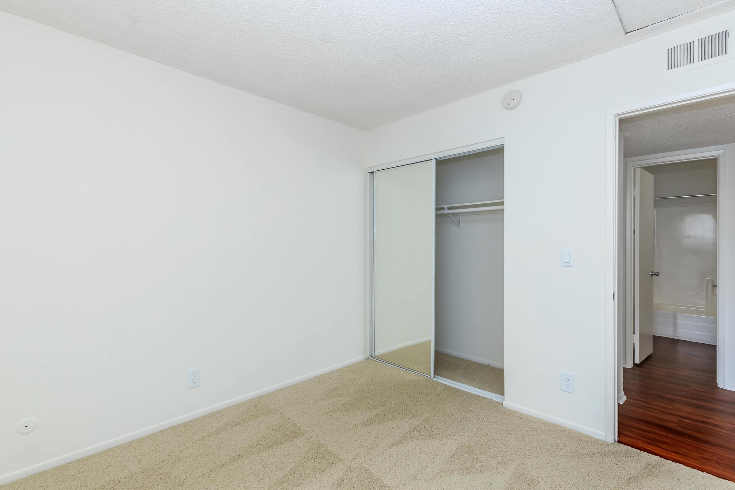
[[[165,422],[159,422],[149,427],[146,427],[140,430],[135,430],[131,433],[126,433],[123,436],[118,436],[112,439],[108,439],[107,441],[99,442],[97,444],[93,444],[83,449],[72,451],[71,453],[67,453],[65,455],[57,456],[56,458],[51,458],[47,461],[43,461],[42,463],[34,464],[32,466],[26,466],[25,468],[18,469],[14,472],[6,473],[5,475],[0,475],[0,485],[4,485],[5,483],[10,483],[11,481],[20,480],[21,478],[26,478],[26,476],[35,475],[36,473],[46,471],[46,469],[51,469],[56,466],[60,466],[61,464],[69,463],[71,461],[75,461],[76,459],[79,459],[79,458],[84,458],[85,456],[92,455],[94,453],[99,453],[100,451],[110,449],[110,447],[119,446],[120,444],[124,444],[126,442],[130,442],[135,439],[140,439],[143,436],[148,436],[149,434],[158,432],[159,430],[167,429],[169,427],[173,427],[173,425],[179,425],[183,422],[188,422],[189,420],[196,419],[198,417],[201,417],[202,415],[211,414],[214,411],[222,410],[223,408],[237,405],[237,403],[243,403],[244,401],[251,400],[252,398],[259,397],[263,394],[275,392],[277,389],[285,388],[286,386],[291,386],[292,384],[301,383],[301,381],[306,381],[307,379],[315,378],[318,375],[325,374],[326,372],[338,370],[342,367],[349,366],[350,364],[355,364],[356,362],[362,361],[364,359],[368,359],[368,356],[367,355],[359,356],[359,357],[356,357],[355,359],[350,359],[349,361],[345,361],[340,364],[335,364],[334,366],[331,366],[331,367],[326,367],[323,370],[311,372],[307,375],[299,376],[298,378],[293,378],[292,380],[289,380],[289,381],[284,381],[283,383],[274,384],[273,386],[268,386],[268,388],[259,389],[257,392],[243,394],[239,397],[232,398],[231,400],[227,400],[222,403],[217,403],[215,405],[208,406],[207,408],[201,408],[200,410],[197,410],[197,411],[193,411],[190,414],[185,414],[180,417],[169,419],[169,420],[166,420]]]

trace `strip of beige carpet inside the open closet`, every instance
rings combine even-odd
[[[505,396],[505,370],[434,352],[434,375]]]

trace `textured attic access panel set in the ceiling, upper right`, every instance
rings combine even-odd
[[[612,0],[625,32],[656,24],[694,10],[716,4],[720,0]]]

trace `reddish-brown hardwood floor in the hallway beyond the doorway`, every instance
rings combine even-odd
[[[735,481],[735,392],[717,387],[714,345],[653,337],[623,368],[618,442]]]

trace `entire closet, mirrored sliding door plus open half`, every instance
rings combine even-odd
[[[372,179],[373,358],[502,400],[503,148]]]

